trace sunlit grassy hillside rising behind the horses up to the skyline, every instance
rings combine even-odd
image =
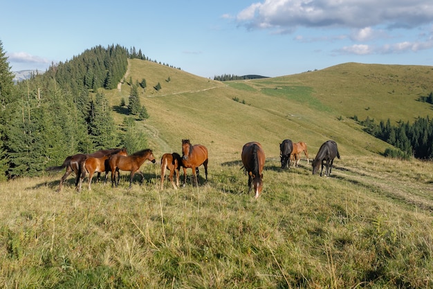
[[[260,141],[268,157],[278,157],[283,139],[305,141],[310,152],[335,139],[342,155],[369,155],[383,152],[387,144],[362,132],[353,116],[412,121],[432,115],[430,105],[416,101],[433,91],[432,67],[349,63],[230,82],[143,60],[129,60],[129,67],[125,79],[147,81],[140,97],[150,118],[143,127],[161,154],[180,150],[181,139],[208,146],[211,158],[220,161],[237,159],[250,140]],[[158,82],[160,91],[152,88]],[[127,99],[129,87],[123,83],[121,91],[107,95],[116,105]],[[122,117],[116,114],[118,122]]]

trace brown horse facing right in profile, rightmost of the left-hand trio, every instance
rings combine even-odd
[[[133,176],[138,173],[141,176],[141,183],[144,181],[145,176],[140,170],[140,166],[145,162],[146,159],[155,164],[154,153],[151,149],[147,148],[145,150],[140,150],[134,152],[132,155],[113,155],[109,158],[109,166],[111,168],[111,187],[119,184],[120,174],[119,170],[128,170],[131,172],[131,177],[129,179],[129,189],[132,187]],[[116,173],[118,174],[118,179],[116,182]]]

